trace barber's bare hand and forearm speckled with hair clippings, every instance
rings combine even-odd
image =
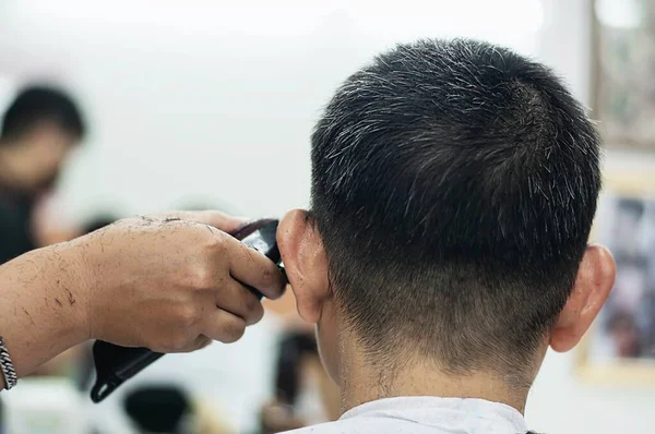
[[[263,315],[245,285],[275,299],[285,284],[224,232],[242,222],[213,212],[126,219],[0,266],[0,330],[19,376],[87,339],[159,352],[239,339]]]

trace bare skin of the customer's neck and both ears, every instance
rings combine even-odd
[[[397,396],[480,398],[523,412],[529,384],[548,347],[564,352],[577,345],[605,303],[616,276],[608,250],[590,245],[567,304],[534,354],[528,384],[517,386],[488,372],[453,376],[433,361],[414,353],[410,347],[393,373],[381,370],[386,364],[377,363],[362,350],[356,328],[349,327],[347,313],[334,297],[321,236],[306,212],[295,209],[285,216],[277,241],[298,313],[315,325],[323,364],[341,387],[342,412],[364,402]]]

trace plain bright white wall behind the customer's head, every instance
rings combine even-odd
[[[257,3],[0,4],[0,84],[47,72],[70,83],[93,114],[88,146],[62,186],[72,217],[159,210],[184,198],[251,216],[306,206],[308,137],[321,106],[400,39],[503,43],[556,68],[588,101],[585,0],[543,0],[543,14],[527,0],[406,0],[402,10],[360,0],[347,11],[345,1]],[[655,424],[653,402],[652,388],[582,385],[571,355],[548,354],[527,418],[548,433],[645,433]]]

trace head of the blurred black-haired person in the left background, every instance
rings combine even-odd
[[[3,182],[27,193],[51,186],[84,132],[80,109],[63,92],[40,86],[23,89],[2,120]]]

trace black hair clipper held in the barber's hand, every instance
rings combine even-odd
[[[273,261],[279,269],[282,257],[275,240],[278,220],[263,219],[238,228],[230,234]],[[250,288],[261,300],[263,297]],[[93,359],[96,367],[96,382],[91,389],[91,400],[100,402],[121,384],[143,371],[164,355],[147,348],[126,348],[96,340],[93,346]]]

